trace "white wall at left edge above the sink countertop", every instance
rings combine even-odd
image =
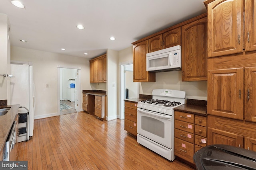
[[[10,39],[8,38],[9,20],[6,14],[0,13],[0,74],[10,74]],[[9,100],[10,78],[0,76],[0,100]]]

